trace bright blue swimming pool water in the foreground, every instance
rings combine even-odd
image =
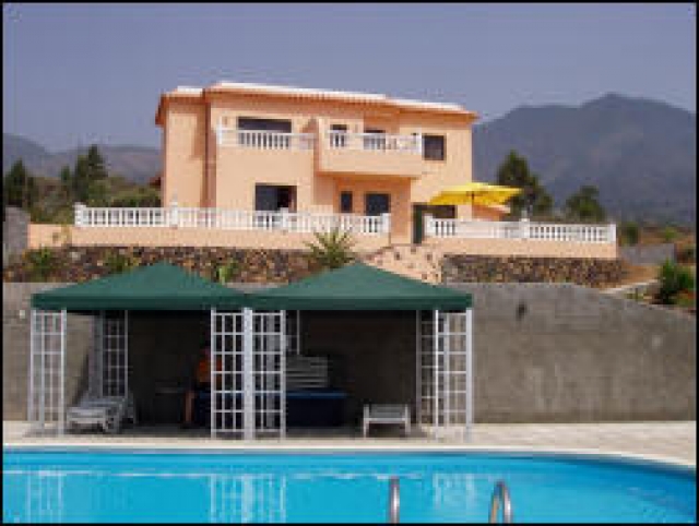
[[[372,522],[400,478],[401,522],[696,522],[696,470],[581,455],[4,450],[2,519]]]

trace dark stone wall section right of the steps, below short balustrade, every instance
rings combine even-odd
[[[574,283],[600,287],[618,283],[620,260],[445,254],[442,283]]]

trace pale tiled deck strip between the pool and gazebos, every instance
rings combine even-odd
[[[273,450],[517,450],[623,454],[689,466],[697,464],[697,422],[619,423],[477,423],[471,441],[434,441],[423,437],[402,439],[382,433],[363,439],[358,430],[289,433],[289,437],[240,440],[211,440],[206,431],[174,428],[125,429],[106,435],[82,432],[57,437],[27,437],[26,422],[3,421],[3,445],[73,445],[91,447],[176,449],[273,449]]]

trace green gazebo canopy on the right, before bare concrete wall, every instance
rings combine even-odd
[[[256,309],[463,310],[472,297],[362,263],[249,296]]]

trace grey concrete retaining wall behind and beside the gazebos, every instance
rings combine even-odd
[[[56,286],[3,284],[5,419],[26,415],[28,296]],[[696,419],[694,316],[568,284],[452,286],[474,296],[477,422]],[[133,388],[145,421],[179,418],[181,396],[162,387],[187,382],[206,315],[134,319]],[[84,385],[91,321],[69,318],[71,399]],[[305,352],[334,361],[348,421],[365,401],[414,403],[414,313],[306,313],[301,328]]]

